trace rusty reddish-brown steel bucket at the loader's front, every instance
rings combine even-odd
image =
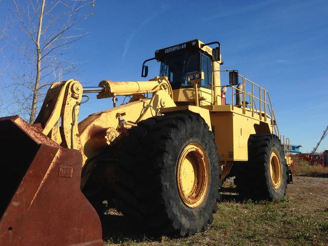
[[[18,116],[0,118],[0,140],[0,245],[103,245],[79,151]]]

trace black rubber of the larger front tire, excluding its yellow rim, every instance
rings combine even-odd
[[[190,142],[209,160],[210,186],[196,208],[183,203],[177,188],[177,162]],[[129,130],[119,151],[117,209],[153,235],[184,237],[206,230],[216,212],[221,168],[214,136],[198,116],[156,116]]]

